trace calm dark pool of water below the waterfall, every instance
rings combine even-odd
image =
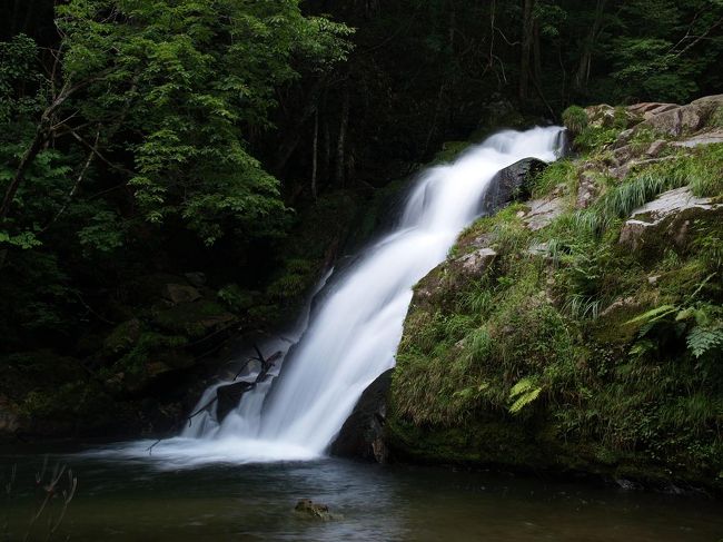
[[[36,510],[43,456],[0,450],[9,540]],[[78,492],[53,540],[75,541],[626,541],[723,540],[723,503],[538,479],[340,460],[165,470],[152,460],[55,453]],[[297,516],[299,499],[343,518]],[[30,540],[44,540],[38,522]]]

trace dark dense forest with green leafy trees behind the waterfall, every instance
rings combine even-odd
[[[0,408],[37,434],[171,426],[179,373],[293,317],[449,141],[723,88],[721,0],[12,0],[0,21]]]

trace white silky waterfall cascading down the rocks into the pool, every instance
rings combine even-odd
[[[364,390],[394,366],[413,286],[445,259],[479,214],[495,174],[526,157],[556,159],[561,134],[558,127],[503,131],[453,164],[427,169],[394,230],[327,288],[269,401],[266,382],[248,392],[221,424],[201,414],[180,437],[159,443],[153,456],[184,466],[321,455]],[[199,405],[218,385],[207,390]],[[142,444],[126,452],[147,454]]]

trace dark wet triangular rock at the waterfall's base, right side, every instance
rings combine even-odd
[[[341,457],[386,463],[388,451],[384,440],[387,413],[387,393],[392,386],[388,369],[379,375],[364,391],[351,415],[331,443],[330,453]]]

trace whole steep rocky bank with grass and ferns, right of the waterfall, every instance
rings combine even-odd
[[[723,96],[567,114],[575,154],[416,287],[397,457],[723,489]]]

